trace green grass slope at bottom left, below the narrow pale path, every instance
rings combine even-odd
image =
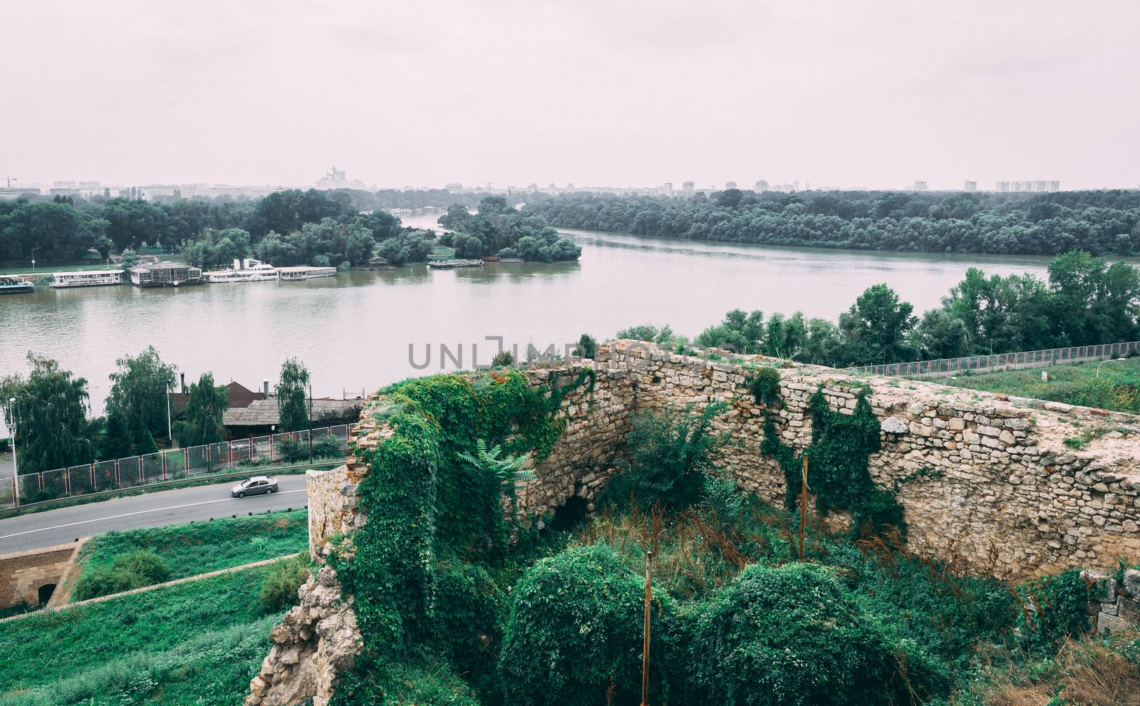
[[[270,566],[0,624],[0,706],[230,706],[246,693],[280,612]]]

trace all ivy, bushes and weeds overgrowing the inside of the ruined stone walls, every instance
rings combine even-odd
[[[1072,641],[1093,649],[1075,573],[1018,593],[907,552],[893,494],[868,476],[858,412],[812,405],[812,488],[856,519],[832,535],[813,518],[803,559],[798,513],[708,463],[715,407],[642,415],[600,518],[557,531],[559,518],[504,517],[520,460],[548,453],[553,411],[592,381],[549,384],[499,370],[385,390],[376,419],[394,433],[363,452],[368,524],[331,559],[364,636],[339,706],[640,703],[649,550],[654,704],[996,706],[1000,660],[1033,672]],[[1140,674],[1127,649],[1114,664]],[[1082,703],[1064,700],[1073,688],[1059,682],[1056,704]]]

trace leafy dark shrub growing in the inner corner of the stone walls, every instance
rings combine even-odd
[[[620,505],[633,495],[638,503],[660,502],[673,511],[700,502],[705,472],[712,468],[712,452],[723,443],[709,428],[725,408],[724,403],[701,411],[686,405],[635,416],[626,436],[629,463],[610,480],[611,502]]]

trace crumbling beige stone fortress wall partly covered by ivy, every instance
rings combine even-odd
[[[1140,417],[809,365],[780,367],[781,403],[765,409],[746,383],[757,366],[776,365],[759,356],[717,362],[614,341],[600,347],[596,360],[526,371],[536,386],[573,384],[584,367],[594,375],[562,397],[565,430],[535,468],[536,479],[520,489],[520,505],[539,514],[568,502],[594,510],[634,414],[716,401],[728,405],[716,427],[731,437],[718,465],[741,488],[779,505],[783,472],[759,451],[765,415],[775,415],[785,445],[803,451],[812,437],[808,399],[822,389],[830,407],[847,414],[864,393],[880,419],[881,448],[869,459],[870,472],[905,509],[912,551],[1009,579],[1075,566],[1109,568],[1119,559],[1140,563]],[[372,416],[382,405],[373,397],[361,412],[357,448],[374,447],[390,433]],[[1078,449],[1066,444],[1076,438]],[[355,495],[368,471],[350,456],[339,469],[309,472],[314,559],[323,559],[333,536],[366,521]],[[1104,577],[1090,578],[1099,597],[1097,625],[1134,620],[1140,573],[1127,573],[1129,591],[1108,587]],[[335,674],[351,664],[359,640],[351,597],[339,595],[327,566],[302,586],[301,606],[270,635],[274,649],[246,706],[293,704],[299,695],[312,696],[315,706],[327,704]]]

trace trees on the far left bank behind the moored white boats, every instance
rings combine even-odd
[[[0,260],[79,260],[144,245],[181,251],[199,267],[254,257],[278,266],[426,261],[431,233],[384,210],[361,214],[343,192],[288,189],[258,201],[138,198],[0,201]]]

